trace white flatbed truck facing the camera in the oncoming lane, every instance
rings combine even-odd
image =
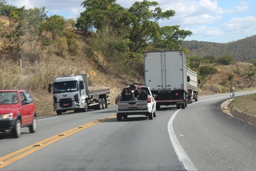
[[[89,86],[87,74],[61,76],[49,84],[53,88],[53,109],[58,115],[63,112],[74,112],[88,109],[105,109],[110,104],[110,88],[106,86]]]

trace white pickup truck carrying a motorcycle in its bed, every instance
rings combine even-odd
[[[145,115],[149,120],[156,117],[156,102],[148,86],[137,84],[124,87],[115,98],[117,121],[128,115]]]

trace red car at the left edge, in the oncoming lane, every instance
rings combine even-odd
[[[26,90],[0,90],[0,133],[12,132],[20,137],[21,128],[37,130],[36,106]]]

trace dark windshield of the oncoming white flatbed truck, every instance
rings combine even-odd
[[[53,84],[53,93],[77,91],[77,87],[76,81],[58,82]]]

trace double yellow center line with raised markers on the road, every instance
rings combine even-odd
[[[11,164],[11,163],[13,163],[13,162],[15,162],[15,161],[17,161],[17,160],[19,160],[19,159],[21,159],[21,158],[23,158],[23,157],[25,157],[25,156],[28,156],[31,153],[36,152],[37,150],[40,150],[41,148],[44,148],[44,147],[46,147],[46,146],[48,146],[48,145],[50,145],[50,144],[52,144],[52,143],[54,143],[58,140],[66,138],[66,137],[68,137],[68,136],[70,136],[70,135],[72,135],[72,134],[74,134],[74,133],[76,133],[80,130],[92,127],[94,125],[97,125],[101,122],[107,121],[107,120],[109,120],[111,118],[115,118],[115,117],[116,117],[116,115],[112,115],[112,116],[107,117],[107,118],[95,120],[93,122],[90,122],[90,123],[87,123],[85,125],[81,125],[79,127],[76,127],[76,128],[67,130],[65,132],[59,133],[57,135],[54,135],[52,137],[49,137],[49,138],[44,139],[42,141],[39,141],[39,142],[37,142],[33,145],[27,146],[27,147],[22,148],[18,151],[15,151],[15,152],[10,153],[6,156],[3,156],[3,157],[0,158],[0,169],[9,165],[9,164]]]

